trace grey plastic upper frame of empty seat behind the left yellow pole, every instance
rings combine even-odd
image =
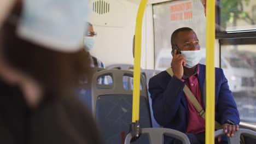
[[[102,86],[97,83],[97,79],[102,76],[109,75],[113,79],[113,85],[106,85]],[[123,86],[123,77],[129,76],[133,77],[133,71],[130,70],[119,70],[119,69],[109,69],[109,70],[102,70],[98,71],[94,74],[92,77],[92,114],[96,119],[96,102],[98,97],[104,96],[104,95],[118,95],[118,94],[124,94],[124,95],[132,95],[132,90],[126,90]],[[146,98],[148,101],[148,89],[146,85],[146,80],[141,75],[141,85],[142,89],[140,91],[140,95]],[[99,89],[101,88],[101,89]]]

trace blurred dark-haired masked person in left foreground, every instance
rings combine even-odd
[[[0,143],[102,143],[74,97],[78,76],[90,76],[79,49],[86,9],[83,0],[1,0]]]

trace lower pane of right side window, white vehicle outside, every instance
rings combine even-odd
[[[256,45],[222,45],[220,57],[241,121],[252,123],[256,123],[255,47]]]

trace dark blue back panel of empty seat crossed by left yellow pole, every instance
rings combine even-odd
[[[103,95],[96,104],[96,121],[107,144],[124,143],[132,121],[131,95]],[[152,127],[148,100],[141,96],[139,107],[141,128]],[[136,142],[149,143],[148,137],[142,135]]]

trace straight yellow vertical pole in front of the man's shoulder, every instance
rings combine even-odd
[[[206,144],[214,143],[215,122],[215,0],[206,2]]]

